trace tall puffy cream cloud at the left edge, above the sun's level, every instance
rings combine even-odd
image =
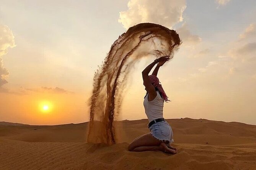
[[[7,49],[9,47],[10,48],[15,47],[13,33],[7,26],[0,25],[0,87],[8,83],[6,78],[9,75],[9,72],[3,66],[3,60],[1,57],[7,54]],[[1,91],[4,91],[4,90],[1,90]]]

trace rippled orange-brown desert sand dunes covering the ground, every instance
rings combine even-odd
[[[148,120],[116,122],[118,144],[86,143],[88,122],[35,126],[0,122],[0,170],[256,169],[256,125],[206,119],[168,119],[175,155],[129,152],[148,133]]]

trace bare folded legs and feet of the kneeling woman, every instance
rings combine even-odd
[[[151,133],[144,134],[136,138],[128,147],[129,151],[142,152],[142,151],[163,151],[175,154],[176,151],[168,148],[162,141],[156,139]]]

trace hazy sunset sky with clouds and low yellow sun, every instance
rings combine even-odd
[[[89,120],[93,76],[112,43],[142,22],[183,43],[158,72],[164,117],[256,125],[254,0],[1,0],[0,121],[31,125]],[[141,71],[129,75],[118,120],[146,119]]]

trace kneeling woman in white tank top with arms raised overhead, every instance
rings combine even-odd
[[[155,59],[153,63],[142,71],[143,85],[147,91],[143,104],[149,121],[148,128],[150,133],[139,136],[132,141],[128,147],[129,151],[163,151],[171,154],[176,154],[177,152],[177,149],[170,145],[173,142],[171,127],[163,119],[163,103],[169,100],[157,78],[158,69],[168,60],[169,56]],[[155,64],[157,64],[157,67],[152,75],[148,76]]]

